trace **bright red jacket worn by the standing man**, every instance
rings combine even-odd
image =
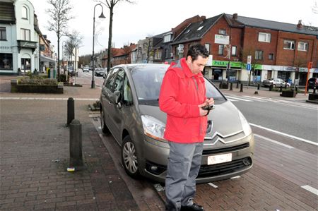
[[[167,113],[164,138],[176,143],[204,141],[207,117],[200,116],[199,104],[206,100],[206,86],[201,73],[194,74],[186,60],[171,64],[163,78],[159,107]]]

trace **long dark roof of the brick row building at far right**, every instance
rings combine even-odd
[[[226,14],[229,19],[232,19],[232,15]],[[281,23],[273,20],[263,20],[258,18],[249,18],[244,16],[237,16],[237,20],[243,23],[245,26],[251,26],[256,28],[266,28],[270,30],[280,30],[285,32],[294,32],[305,35],[318,35],[318,28],[312,26],[302,25],[302,28],[297,28],[297,24]]]

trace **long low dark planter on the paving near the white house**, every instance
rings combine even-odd
[[[60,83],[59,85],[18,84],[18,80],[12,79],[11,92],[63,94],[63,84],[60,84]]]

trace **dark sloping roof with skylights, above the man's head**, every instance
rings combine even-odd
[[[175,38],[172,44],[201,40],[221,16],[223,16],[223,14],[196,23],[191,23],[178,37]]]

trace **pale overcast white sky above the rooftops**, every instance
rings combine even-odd
[[[43,35],[54,45],[57,52],[57,35],[47,30],[49,16],[45,11],[52,8],[47,0],[29,0],[35,7]],[[69,21],[69,31],[76,30],[83,36],[79,55],[93,52],[93,13],[94,0],[69,0],[73,9]],[[104,2],[106,0],[103,0]],[[304,25],[318,27],[318,0],[131,0],[134,4],[119,1],[114,7],[112,42],[120,48],[124,44],[137,43],[145,37],[158,35],[175,28],[183,20],[193,16],[211,18],[221,13],[273,20],[297,24],[302,20]],[[105,19],[98,18],[102,8],[95,7],[95,53],[105,50],[108,44],[110,21],[109,8],[103,7]],[[62,37],[61,41],[67,40]],[[61,44],[60,44],[61,49]]]

